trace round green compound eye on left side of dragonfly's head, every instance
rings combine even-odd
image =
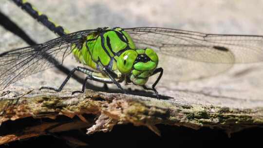
[[[131,73],[132,66],[138,54],[134,50],[123,52],[117,59],[117,68],[122,74]]]

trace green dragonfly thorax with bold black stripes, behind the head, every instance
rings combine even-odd
[[[123,51],[135,50],[129,34],[121,28],[106,28],[83,37],[82,41],[73,45],[72,52],[80,63],[96,70],[102,70],[109,66],[113,71],[117,70],[116,58]]]

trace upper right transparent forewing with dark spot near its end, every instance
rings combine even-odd
[[[138,46],[150,46],[167,55],[213,63],[263,61],[263,36],[203,34],[154,27],[128,28],[125,31]],[[224,55],[224,59],[214,58],[219,55]]]

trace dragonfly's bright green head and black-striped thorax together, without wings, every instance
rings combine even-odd
[[[136,49],[130,35],[121,28],[106,28],[87,36],[72,46],[72,53],[77,61],[100,72],[108,67],[118,79],[127,75],[135,85],[144,85],[158,65],[156,53],[150,48]]]

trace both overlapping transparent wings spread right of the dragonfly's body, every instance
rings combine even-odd
[[[234,63],[263,61],[262,36],[203,34],[156,27],[124,30],[138,48],[149,47],[159,53],[160,63],[169,64],[169,69],[177,72],[178,81],[222,73]]]

